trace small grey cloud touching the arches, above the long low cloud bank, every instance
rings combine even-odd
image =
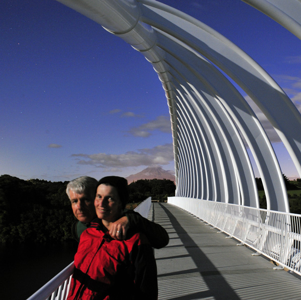
[[[150,121],[148,123],[142,124],[138,127],[133,127],[129,130],[129,133],[133,136],[138,137],[148,137],[150,132],[154,130],[159,130],[166,133],[171,133],[171,120],[167,116],[159,116],[156,120]]]

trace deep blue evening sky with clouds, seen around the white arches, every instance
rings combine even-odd
[[[299,108],[295,36],[240,0],[161,2],[238,45]],[[65,181],[126,177],[154,164],[174,170],[165,93],[141,54],[55,0],[3,0],[0,23],[0,175]],[[258,116],[282,172],[299,177]]]

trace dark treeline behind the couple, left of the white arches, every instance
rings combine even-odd
[[[61,242],[72,239],[75,221],[66,186],[69,181],[23,180],[0,176],[0,242]],[[171,180],[138,180],[129,185],[130,201],[175,195]],[[155,199],[154,198],[154,199]]]

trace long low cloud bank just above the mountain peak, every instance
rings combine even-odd
[[[92,165],[97,168],[118,169],[126,167],[167,165],[174,160],[173,144],[159,145],[154,148],[138,149],[124,154],[72,154],[80,165]]]

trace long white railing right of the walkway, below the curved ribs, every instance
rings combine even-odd
[[[301,215],[183,197],[169,197],[168,203],[269,257],[279,264],[275,268],[301,275]]]

